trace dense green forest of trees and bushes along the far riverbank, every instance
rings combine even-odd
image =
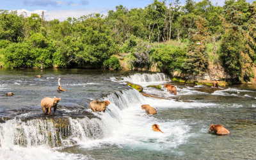
[[[120,63],[121,61],[121,63]],[[4,68],[156,67],[200,75],[222,67],[250,81],[256,63],[256,1],[157,1],[145,8],[116,6],[108,15],[45,20],[0,10]]]

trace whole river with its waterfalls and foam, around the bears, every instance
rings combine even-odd
[[[68,92],[57,92],[58,78]],[[166,99],[144,97],[125,81]],[[177,86],[177,96],[166,83]],[[256,159],[256,85],[212,88],[163,73],[1,69],[0,95],[0,159]],[[40,101],[54,96],[61,97],[58,115],[44,115]],[[92,112],[94,99],[109,100],[105,113]],[[231,134],[209,134],[211,124]]]

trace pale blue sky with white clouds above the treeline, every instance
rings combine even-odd
[[[180,0],[180,4],[185,4],[185,1]],[[212,0],[212,4],[223,5],[224,1]],[[252,1],[247,0],[250,3]],[[144,8],[152,2],[153,0],[0,0],[0,10],[17,10],[18,13],[26,12],[27,16],[31,13],[41,15],[44,10],[47,20],[65,20],[68,17],[79,18],[90,13],[107,15],[109,10],[115,10],[115,6],[120,4],[131,9]]]

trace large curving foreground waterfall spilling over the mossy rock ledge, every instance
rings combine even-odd
[[[7,120],[0,124],[0,147],[60,147],[104,138],[120,123],[120,111],[134,100],[140,102],[143,97],[134,90],[125,90],[111,93],[105,99],[111,104],[105,113],[94,113],[99,118],[39,117],[26,120],[25,114],[25,117]]]

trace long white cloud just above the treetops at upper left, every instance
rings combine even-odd
[[[17,10],[18,14],[26,13],[24,15],[30,16],[31,13],[37,13],[41,15],[44,11],[45,19],[52,20],[52,19],[59,19],[59,20],[66,20],[68,17],[75,17],[79,18],[83,15],[88,15],[90,13],[100,13],[103,15],[107,15],[108,11],[111,10],[110,8],[97,8],[97,9],[84,9],[84,10],[35,10],[29,11],[25,9]]]

